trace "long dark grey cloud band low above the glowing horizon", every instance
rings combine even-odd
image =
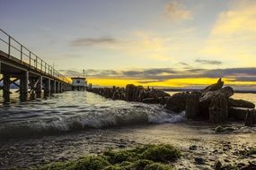
[[[82,72],[72,70],[62,70],[66,76],[81,76]],[[256,67],[247,68],[226,68],[226,69],[187,69],[173,70],[172,68],[151,68],[128,71],[114,70],[85,70],[88,78],[111,78],[111,79],[131,79],[140,83],[168,81],[172,79],[192,79],[192,78],[219,78],[224,77],[233,81],[256,81]]]

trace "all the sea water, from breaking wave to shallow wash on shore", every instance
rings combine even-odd
[[[256,104],[255,94],[235,94],[234,98]],[[86,91],[23,102],[13,93],[10,99],[0,102],[0,169],[27,169],[146,143],[170,143],[185,153],[175,166],[203,169],[211,168],[218,158],[237,163],[240,159],[235,151],[256,145],[256,129],[241,123],[229,123],[236,128],[232,133],[215,134],[215,124],[187,121],[185,113],[172,113],[160,105],[111,100]],[[213,152],[230,143],[234,148],[225,154]],[[196,153],[191,152],[190,145],[199,146]],[[207,157],[207,164],[196,166],[194,154]],[[249,160],[252,157],[243,162]]]

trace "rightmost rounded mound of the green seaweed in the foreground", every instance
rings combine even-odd
[[[178,149],[172,147],[172,145],[158,145],[152,148],[146,149],[142,155],[142,158],[152,160],[154,162],[172,162],[181,157],[181,152]]]

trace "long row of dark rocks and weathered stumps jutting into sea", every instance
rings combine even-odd
[[[231,98],[234,89],[225,86],[221,78],[205,89],[186,91],[170,96],[160,89],[145,89],[143,86],[128,84],[126,88],[89,88],[105,98],[162,104],[173,112],[186,111],[192,120],[207,120],[210,123],[222,123],[228,120],[245,121],[245,125],[256,123],[256,110],[252,102]]]

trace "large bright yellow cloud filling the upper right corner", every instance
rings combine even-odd
[[[256,1],[232,1],[216,17],[201,54],[235,67],[256,65]]]

